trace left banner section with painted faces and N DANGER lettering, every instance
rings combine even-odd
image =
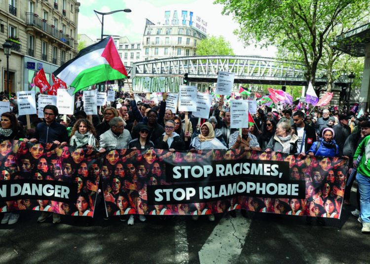
[[[1,211],[93,215],[101,167],[97,151],[52,143],[1,144],[6,145],[0,151]]]

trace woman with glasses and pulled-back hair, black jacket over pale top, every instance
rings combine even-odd
[[[155,141],[157,149],[168,149],[171,152],[185,150],[185,142],[175,130],[175,122],[168,120],[164,124],[164,133]]]

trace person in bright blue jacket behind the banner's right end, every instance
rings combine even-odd
[[[323,130],[323,137],[314,142],[307,154],[313,156],[339,157],[339,147],[335,143],[334,130],[326,128]]]

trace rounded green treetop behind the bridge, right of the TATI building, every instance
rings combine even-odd
[[[230,42],[226,41],[223,36],[208,36],[202,39],[196,47],[198,56],[234,55]]]

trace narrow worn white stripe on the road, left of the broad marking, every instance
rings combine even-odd
[[[186,225],[184,217],[178,217],[175,227],[175,263],[187,264],[189,262]]]

